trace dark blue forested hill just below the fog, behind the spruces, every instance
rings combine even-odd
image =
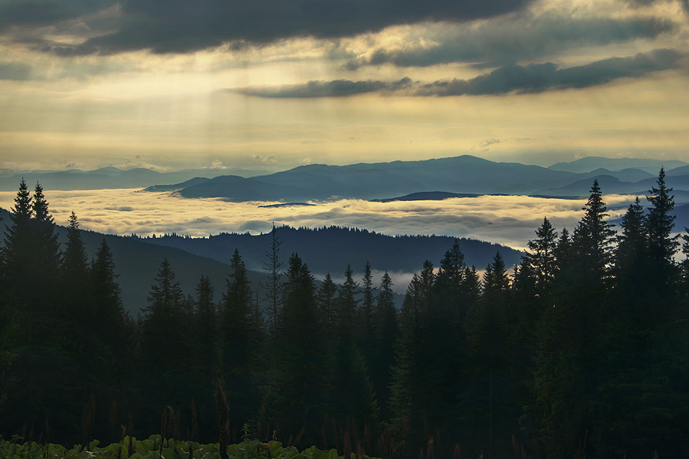
[[[374,270],[396,273],[418,272],[426,259],[437,264],[449,250],[455,238],[449,236],[388,236],[365,229],[330,226],[323,228],[276,228],[282,241],[280,253],[287,259],[291,253],[299,256],[309,265],[313,273],[340,277],[347,265],[355,271],[363,269],[367,261]],[[211,237],[191,238],[179,235],[150,237],[145,242],[181,248],[189,253],[227,261],[238,248],[247,268],[261,270],[265,250],[271,235],[227,234]],[[520,261],[522,253],[507,246],[491,244],[475,239],[460,239],[464,261],[469,266],[482,269],[491,263],[495,253],[500,254],[507,266]]]

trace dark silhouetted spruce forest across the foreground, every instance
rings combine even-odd
[[[383,458],[685,458],[689,263],[676,255],[689,233],[673,236],[671,192],[661,170],[648,209],[637,199],[615,231],[594,182],[571,233],[544,218],[520,264],[508,272],[496,253],[481,275],[455,243],[420,266],[401,309],[369,264],[317,286],[274,230],[265,284],[235,251],[225,285],[201,276],[184,295],[163,260],[134,319],[107,244],[89,259],[72,214],[60,248],[41,187],[21,182],[0,265],[0,431],[217,441],[222,388],[234,441]]]

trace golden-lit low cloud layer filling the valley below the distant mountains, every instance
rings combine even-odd
[[[101,233],[161,235],[178,233],[194,237],[218,233],[268,232],[273,224],[289,226],[349,226],[378,233],[436,234],[471,237],[523,249],[534,231],[548,217],[558,230],[570,230],[582,217],[585,200],[482,196],[443,201],[367,202],[340,200],[316,206],[258,207],[265,202],[224,202],[217,199],[183,199],[135,190],[48,191],[57,224],[66,225],[70,213],[81,228]],[[0,193],[0,206],[10,209],[16,193]],[[611,217],[626,211],[634,198],[605,197]],[[117,205],[113,206],[112,203]]]

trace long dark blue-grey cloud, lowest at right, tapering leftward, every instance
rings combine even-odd
[[[471,80],[436,81],[419,87],[417,96],[460,96],[543,92],[548,89],[582,88],[609,83],[617,78],[638,78],[650,72],[677,67],[681,54],[655,50],[634,57],[613,57],[578,67],[557,70],[553,63],[508,65]]]

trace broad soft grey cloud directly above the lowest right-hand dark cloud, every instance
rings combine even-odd
[[[441,63],[473,62],[497,67],[522,59],[547,56],[564,49],[653,38],[673,29],[658,19],[571,19],[555,14],[536,18],[508,15],[477,28],[462,28],[433,37],[435,47],[374,50],[370,56],[345,64],[346,70],[364,65],[393,64],[425,67]],[[485,63],[485,64],[484,64]]]

